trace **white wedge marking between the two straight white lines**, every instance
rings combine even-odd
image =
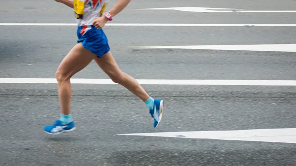
[[[143,46],[143,47],[130,47],[130,48],[171,48],[171,49],[296,52],[296,44]]]

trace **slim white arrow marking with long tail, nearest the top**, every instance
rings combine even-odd
[[[295,13],[296,10],[243,10],[229,8],[211,8],[211,7],[165,7],[165,8],[147,8],[136,10],[179,10],[189,12],[210,12],[210,13]]]

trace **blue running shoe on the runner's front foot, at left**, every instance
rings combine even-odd
[[[74,121],[68,124],[62,124],[60,120],[56,120],[52,126],[45,126],[44,132],[49,134],[60,134],[64,132],[72,132],[76,129]]]

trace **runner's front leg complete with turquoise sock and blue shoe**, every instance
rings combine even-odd
[[[85,49],[81,43],[76,44],[63,59],[56,71],[58,81],[59,100],[61,105],[61,117],[51,126],[45,126],[44,131],[49,134],[71,132],[76,129],[70,111],[71,82],[70,78],[87,66],[96,56]]]

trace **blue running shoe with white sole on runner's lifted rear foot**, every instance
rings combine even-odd
[[[153,104],[153,109],[149,110],[151,117],[154,118],[153,127],[157,128],[162,120],[162,110],[163,110],[163,100],[155,99]]]

